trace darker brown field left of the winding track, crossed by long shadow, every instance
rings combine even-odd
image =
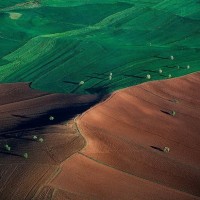
[[[34,199],[47,187],[60,163],[85,145],[72,118],[98,100],[95,95],[44,93],[27,83],[0,85],[1,200]]]

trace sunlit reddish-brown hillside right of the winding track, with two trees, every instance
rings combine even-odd
[[[55,199],[200,199],[199,88],[200,73],[149,82],[80,115],[86,146],[46,191],[56,188]]]

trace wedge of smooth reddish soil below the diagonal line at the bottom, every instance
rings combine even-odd
[[[81,154],[64,162],[61,173],[51,185],[91,199],[195,199],[187,193],[132,176]]]

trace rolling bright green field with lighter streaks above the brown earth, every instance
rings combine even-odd
[[[13,0],[0,16],[1,83],[93,94],[200,70],[198,0]]]

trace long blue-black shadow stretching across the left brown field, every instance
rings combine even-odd
[[[79,96],[77,96],[79,98]],[[94,96],[95,97],[95,96]],[[69,98],[73,98],[70,97]],[[78,114],[83,113],[84,111],[88,110],[90,107],[94,106],[96,103],[103,101],[105,98],[104,95],[98,95],[96,98],[93,98],[91,101],[85,101],[80,103],[73,103],[72,105],[65,105],[64,103],[60,105],[59,108],[56,109],[50,109],[47,111],[44,111],[43,113],[31,113],[31,116],[34,116],[33,118],[26,118],[27,120],[24,120],[23,122],[19,122],[18,125],[16,125],[14,128],[8,128],[6,130],[2,130],[0,132],[0,141],[1,140],[7,140],[7,139],[20,139],[24,140],[25,142],[34,142],[30,136],[32,136],[34,133],[34,130],[36,128],[37,135],[42,134],[44,129],[47,126],[50,125],[58,125],[62,122],[66,122]],[[42,106],[42,105],[41,105]],[[53,105],[52,105],[53,106]],[[30,108],[31,109],[31,108]],[[38,117],[36,117],[39,115]],[[20,116],[20,115],[17,115]],[[54,117],[54,120],[50,120],[50,116]],[[13,115],[13,117],[16,117],[16,115]],[[21,117],[21,116],[20,116]],[[29,137],[29,138],[27,138]],[[16,147],[15,147],[16,148]],[[0,152],[1,153],[1,152]],[[10,154],[10,152],[9,152]]]

